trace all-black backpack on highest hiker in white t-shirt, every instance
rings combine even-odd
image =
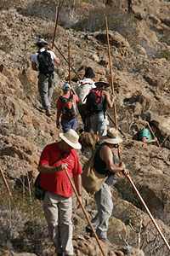
[[[54,72],[54,64],[50,53],[45,49],[44,51],[38,50],[37,61],[39,62],[39,72],[49,74]]]

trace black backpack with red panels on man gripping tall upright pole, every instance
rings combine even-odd
[[[104,109],[104,105],[101,102],[101,95],[102,90],[99,90],[97,88],[94,88],[90,90],[88,95],[86,96],[87,102],[86,102],[86,110],[90,111],[92,113],[99,113],[99,111],[102,111]]]

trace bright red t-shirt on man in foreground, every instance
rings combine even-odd
[[[47,145],[42,150],[39,166],[50,166],[54,163],[55,160],[59,158],[59,155],[60,151],[58,148],[58,143]],[[72,175],[78,175],[82,173],[82,167],[78,159],[78,154],[74,148],[71,148],[70,153],[65,153],[65,155],[53,166],[60,166],[62,163],[68,164],[67,172],[71,178]],[[65,170],[54,173],[42,173],[40,186],[51,193],[63,195],[65,197],[71,197],[73,193],[71,182],[67,177]]]

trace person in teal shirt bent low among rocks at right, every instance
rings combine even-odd
[[[156,137],[152,138],[151,131],[153,131],[155,134],[158,129],[159,129],[159,122],[157,122],[156,120],[152,120],[149,122],[149,127],[138,131],[133,136],[133,139],[151,145],[152,143],[157,142]]]

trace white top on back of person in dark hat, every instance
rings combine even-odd
[[[76,84],[75,91],[78,96],[78,105],[83,105],[86,103],[85,97],[93,87],[95,87],[94,81],[91,79],[83,79]]]

